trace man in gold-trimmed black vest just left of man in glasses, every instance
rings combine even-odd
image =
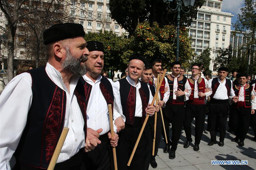
[[[171,145],[172,148],[169,150],[169,159],[174,159],[176,157],[175,151],[181,135],[185,115],[184,102],[188,100],[188,97],[191,94],[191,87],[187,81],[187,78],[179,75],[181,69],[181,63],[179,61],[172,62],[171,69],[172,74],[166,76],[170,88],[170,96],[164,110],[164,125],[167,140],[169,140],[169,124],[172,122],[172,142],[168,142],[167,151]],[[185,90],[187,92],[184,92]],[[164,136],[164,134],[162,135]]]

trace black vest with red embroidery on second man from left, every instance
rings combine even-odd
[[[92,91],[92,85],[87,83],[83,77],[80,77],[79,80],[82,82],[82,84],[84,86],[84,92],[85,92],[85,98],[86,98],[86,100],[85,100],[86,107],[85,108],[87,108],[90,94]],[[112,105],[112,113],[113,113],[113,106],[114,106],[113,88],[112,88],[110,81],[106,77],[102,77],[100,79],[100,90],[107,102],[107,105],[109,105],[109,104]]]

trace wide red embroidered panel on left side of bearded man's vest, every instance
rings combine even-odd
[[[46,118],[44,120],[43,134],[45,135],[45,144],[46,144],[46,162],[51,160],[53,152],[55,150],[57,144],[57,138],[61,126],[61,120],[63,116],[63,100],[64,100],[64,91],[57,90],[57,86],[55,88],[53,98],[51,101],[51,105],[46,114]],[[43,138],[42,138],[43,139]],[[43,145],[42,145],[43,147]],[[43,148],[42,148],[43,149]],[[42,150],[41,149],[41,158],[42,158]]]

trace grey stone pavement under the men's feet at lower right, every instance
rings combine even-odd
[[[207,121],[207,119],[205,119]],[[194,123],[194,121],[193,121]],[[205,122],[205,129],[207,128],[207,122]],[[192,125],[192,139],[195,141],[195,126]],[[226,128],[228,130],[228,127]],[[171,130],[170,130],[171,137]],[[158,156],[156,156],[156,162],[158,164],[158,170],[178,170],[178,169],[256,169],[256,142],[252,141],[254,133],[250,127],[247,137],[244,141],[245,146],[238,146],[237,143],[231,142],[234,133],[226,132],[224,140],[224,146],[220,147],[218,144],[208,146],[207,143],[210,141],[210,133],[205,131],[201,143],[199,145],[200,150],[195,152],[193,150],[194,144],[189,148],[183,148],[186,142],[185,131],[182,130],[181,138],[178,143],[176,150],[176,158],[169,159],[168,153],[163,153],[165,146],[162,140],[158,150]],[[219,133],[217,133],[217,141],[219,139]],[[248,165],[212,165],[211,160],[247,160]],[[149,165],[149,169],[154,169]]]

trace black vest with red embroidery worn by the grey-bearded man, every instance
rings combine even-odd
[[[66,93],[49,78],[45,67],[29,70],[28,73],[32,77],[33,98],[26,126],[14,155],[21,163],[46,169],[64,126]],[[86,137],[85,97],[80,81],[75,88],[75,95],[84,117]]]

